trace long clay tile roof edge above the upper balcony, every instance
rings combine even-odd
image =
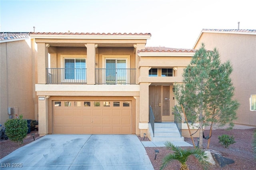
[[[151,36],[150,33],[72,33],[72,32],[31,32],[30,35],[88,35],[88,36]]]

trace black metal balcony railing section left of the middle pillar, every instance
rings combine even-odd
[[[86,69],[46,68],[47,84],[86,84]]]

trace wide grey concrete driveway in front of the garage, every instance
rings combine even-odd
[[[154,170],[143,144],[129,134],[46,135],[5,156],[0,164],[1,170]]]

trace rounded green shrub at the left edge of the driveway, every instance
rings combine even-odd
[[[20,115],[18,119],[9,119],[4,123],[8,138],[19,145],[23,143],[23,139],[26,138],[28,133],[28,123],[22,117]]]

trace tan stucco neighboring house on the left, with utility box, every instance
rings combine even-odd
[[[29,33],[0,33],[1,125],[18,115],[38,119],[34,45]]]

